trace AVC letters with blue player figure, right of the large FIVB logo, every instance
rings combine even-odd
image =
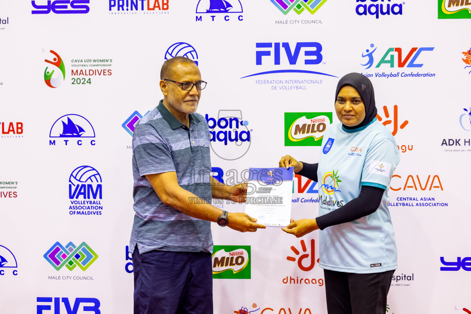
[[[374,48],[374,44],[370,45],[370,48]],[[377,48],[377,47],[376,47]],[[373,58],[373,53],[376,51],[376,48],[374,50],[370,51],[370,49],[366,49],[366,54],[362,53],[362,57],[368,58],[368,61],[365,64],[361,64],[363,66],[366,66],[365,69],[369,69],[373,66],[374,64],[374,58]],[[406,56],[404,56],[404,59],[402,58],[402,48],[388,48],[386,50],[386,53],[382,56],[380,62],[376,64],[376,67],[379,68],[382,64],[389,64],[391,68],[393,68],[395,65],[397,65],[400,68],[403,68],[404,66],[408,68],[421,68],[423,64],[416,64],[415,61],[417,60],[418,56],[423,52],[423,51],[432,51],[435,47],[415,47],[411,48],[409,52],[407,53]],[[406,52],[406,51],[404,51]],[[398,62],[395,62],[395,53],[397,53],[398,56]],[[387,59],[389,57],[389,59]],[[409,61],[410,60],[410,61]]]

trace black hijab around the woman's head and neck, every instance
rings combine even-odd
[[[337,84],[337,90],[335,91],[335,102],[337,102],[337,96],[339,95],[341,88],[345,85],[353,86],[357,90],[358,94],[360,94],[361,100],[363,100],[363,104],[365,105],[365,119],[363,119],[360,124],[354,127],[349,127],[344,124],[342,125],[345,129],[357,129],[364,127],[373,121],[374,117],[376,117],[376,113],[378,112],[374,102],[373,84],[371,83],[370,79],[368,79],[363,74],[356,72],[348,73],[347,75],[344,75]]]

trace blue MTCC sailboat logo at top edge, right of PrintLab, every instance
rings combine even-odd
[[[230,1],[230,3],[229,3]],[[242,3],[239,0],[199,0],[196,5],[196,14],[224,14],[224,20],[229,21],[231,16],[228,14],[231,13],[244,13],[242,8]],[[210,18],[214,22],[214,18],[219,18],[216,15],[206,16],[205,18]],[[221,15],[222,18],[222,15]],[[239,15],[237,17],[239,21],[244,20],[244,16]],[[196,16],[196,21],[203,21],[203,16]]]

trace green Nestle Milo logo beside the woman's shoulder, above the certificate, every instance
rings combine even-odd
[[[332,113],[284,113],[284,146],[320,146],[331,123]]]

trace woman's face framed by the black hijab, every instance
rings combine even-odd
[[[335,112],[337,118],[348,127],[355,127],[365,119],[365,105],[353,86],[345,85],[340,89]]]

